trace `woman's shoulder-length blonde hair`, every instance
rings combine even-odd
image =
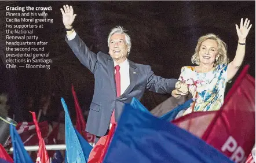
[[[228,56],[227,56],[227,46],[226,43],[224,41],[222,41],[217,35],[214,34],[207,34],[207,35],[203,35],[198,39],[198,45],[196,45],[196,50],[195,53],[193,54],[191,61],[192,64],[197,64],[199,65],[200,61],[199,61],[199,50],[200,47],[202,45],[202,42],[204,42],[205,40],[215,40],[215,42],[217,42],[217,51],[218,51],[218,60],[216,60],[214,62],[214,67],[220,64],[228,64]]]

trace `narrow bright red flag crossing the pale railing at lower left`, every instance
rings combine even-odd
[[[32,113],[33,121],[35,123],[36,134],[39,139],[39,149],[38,149],[38,154],[36,158],[36,163],[50,163],[50,160],[45,148],[45,141],[42,138],[38,122],[36,121],[35,112],[30,112],[30,113]]]

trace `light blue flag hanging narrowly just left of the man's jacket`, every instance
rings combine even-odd
[[[73,127],[67,104],[63,98],[61,98],[61,103],[65,110],[65,162],[85,163],[88,161],[92,146]]]

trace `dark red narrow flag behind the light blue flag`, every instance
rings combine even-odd
[[[75,111],[76,111],[76,129],[83,136],[83,138],[87,140],[88,143],[94,143],[95,135],[85,131],[85,127],[86,127],[85,119],[83,118],[83,113],[79,106],[78,98],[76,97],[76,93],[73,85],[72,85],[72,94],[74,97]]]

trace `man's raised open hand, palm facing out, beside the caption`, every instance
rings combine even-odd
[[[64,10],[61,8],[61,13],[63,17],[63,24],[65,25],[65,28],[70,29],[72,28],[72,23],[75,20],[76,14],[74,14],[74,10],[72,6],[64,5]]]

